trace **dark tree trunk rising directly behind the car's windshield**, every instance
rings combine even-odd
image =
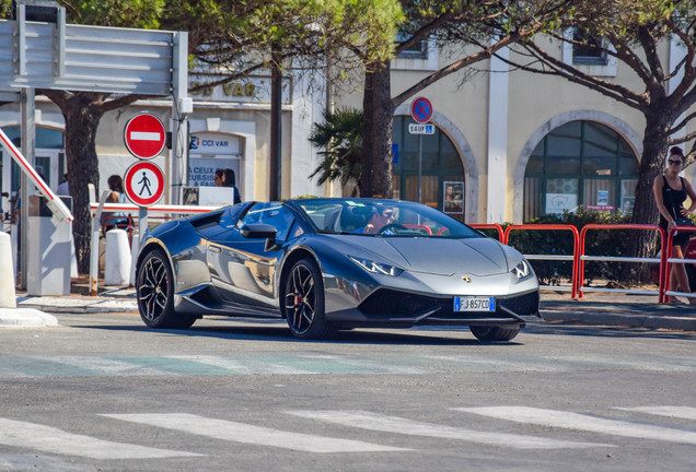
[[[364,128],[362,133],[363,167],[360,175],[362,197],[392,198],[392,103],[391,69],[388,62],[366,72]]]

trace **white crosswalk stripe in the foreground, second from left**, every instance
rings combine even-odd
[[[359,440],[336,439],[324,436],[285,432],[245,423],[214,420],[185,413],[104,414],[102,416],[181,430],[216,439],[272,446],[308,452],[380,452],[409,450]]]

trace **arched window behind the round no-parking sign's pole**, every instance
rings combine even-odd
[[[394,198],[418,201],[419,134],[410,134],[410,117],[394,117]],[[422,139],[420,193],[421,203],[464,217],[464,166],[454,144],[439,128]],[[448,208],[444,208],[445,185]]]

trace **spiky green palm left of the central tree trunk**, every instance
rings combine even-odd
[[[324,114],[324,122],[315,123],[310,142],[316,149],[323,149],[322,163],[310,175],[318,175],[318,182],[340,179],[345,186],[349,180],[358,181],[362,174],[362,123],[363,115],[356,108],[341,108]]]

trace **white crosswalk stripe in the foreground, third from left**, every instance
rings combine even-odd
[[[370,430],[445,439],[461,439],[515,449],[579,449],[601,446],[611,447],[610,445],[603,444],[575,442],[507,433],[479,432],[432,423],[416,422],[396,416],[385,416],[363,411],[289,411],[287,413]]]

